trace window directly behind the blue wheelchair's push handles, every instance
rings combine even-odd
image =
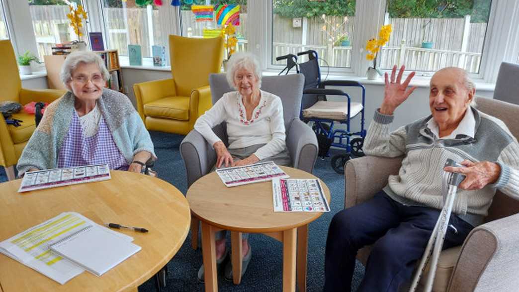
[[[315,50],[329,67],[351,67],[354,0],[273,0],[272,64],[276,57]]]

